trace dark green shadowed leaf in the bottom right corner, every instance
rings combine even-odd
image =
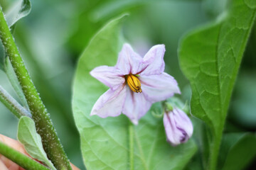
[[[240,170],[256,156],[256,135],[232,133],[223,135],[220,147],[219,169]]]

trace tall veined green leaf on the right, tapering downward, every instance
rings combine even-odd
[[[255,21],[256,1],[234,0],[216,23],[183,38],[179,60],[192,89],[191,113],[210,127],[210,169],[215,169],[230,96]]]

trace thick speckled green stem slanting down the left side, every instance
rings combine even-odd
[[[41,98],[36,91],[31,77],[23,63],[18,48],[11,35],[10,29],[7,26],[3,11],[0,10],[0,38],[3,42],[6,55],[11,61],[18,82],[21,85],[23,94],[31,111],[32,118],[36,123],[36,131],[41,135],[43,149],[45,149],[48,158],[53,162],[56,169],[72,169],[68,157],[66,156],[60,140],[53,128],[53,123],[50,120]]]

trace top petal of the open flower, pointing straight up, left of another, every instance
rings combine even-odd
[[[117,67],[122,74],[137,74],[142,68],[142,57],[140,57],[129,44],[124,44],[117,60]]]

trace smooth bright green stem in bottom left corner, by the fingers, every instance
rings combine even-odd
[[[3,142],[0,142],[0,154],[4,155],[4,157],[8,159],[11,159],[11,161],[23,167],[23,169],[49,170],[46,168],[46,166],[43,166],[30,157],[27,157],[25,154],[21,154],[21,152],[18,152],[15,149],[5,145]]]

